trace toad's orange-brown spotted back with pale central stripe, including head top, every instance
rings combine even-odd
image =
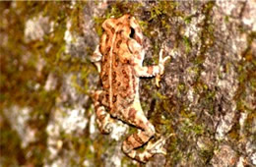
[[[99,48],[102,54],[100,79],[105,91],[105,104],[114,116],[134,101],[139,79],[131,65],[129,16],[108,19],[102,28],[105,31]]]

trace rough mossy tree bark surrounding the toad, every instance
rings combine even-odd
[[[171,56],[157,88],[142,79],[142,107],[167,155],[147,164],[101,135],[89,61],[101,23],[132,14],[146,36],[145,65]],[[1,166],[256,165],[256,1],[1,2]],[[155,61],[156,60],[156,61]]]

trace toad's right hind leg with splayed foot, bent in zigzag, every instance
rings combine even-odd
[[[123,141],[122,149],[131,158],[141,162],[147,162],[155,153],[165,154],[163,148],[164,139],[160,139],[154,143],[148,143],[145,150],[140,151],[136,148],[142,146],[155,135],[155,128],[144,115],[141,107],[131,107],[127,109],[130,124],[140,128],[137,133],[129,136]]]

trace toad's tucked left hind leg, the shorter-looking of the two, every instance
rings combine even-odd
[[[105,107],[102,105],[102,101],[105,100],[105,92],[97,90],[94,92],[94,104],[96,109],[96,123],[100,133],[109,134],[112,131],[111,123],[113,120],[110,118],[110,114],[106,112]]]

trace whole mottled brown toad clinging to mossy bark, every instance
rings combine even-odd
[[[122,149],[131,158],[147,162],[155,153],[164,153],[164,139],[148,143],[144,151],[136,150],[155,135],[154,126],[141,108],[140,77],[162,75],[168,57],[162,59],[160,52],[159,65],[142,66],[145,56],[143,34],[135,18],[130,15],[108,19],[102,28],[104,33],[92,56],[103,88],[94,95],[96,122],[104,134],[112,131],[112,118],[136,126],[138,132],[123,142]]]

